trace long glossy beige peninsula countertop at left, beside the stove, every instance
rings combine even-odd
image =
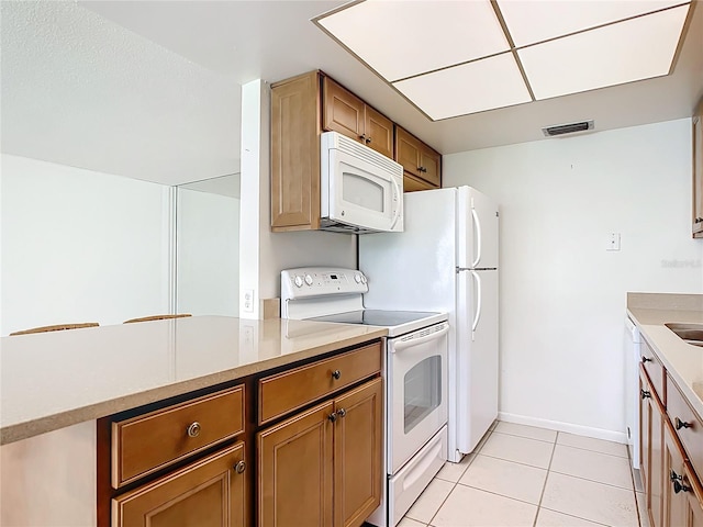
[[[0,445],[380,338],[384,328],[193,316],[0,338]]]

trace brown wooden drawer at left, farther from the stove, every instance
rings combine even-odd
[[[243,385],[112,423],[112,486],[243,431]]]

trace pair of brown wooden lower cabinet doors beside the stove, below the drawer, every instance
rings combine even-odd
[[[358,527],[380,504],[382,381],[257,434],[259,527]]]

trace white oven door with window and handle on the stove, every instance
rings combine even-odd
[[[448,323],[388,339],[388,471],[394,474],[447,423]]]

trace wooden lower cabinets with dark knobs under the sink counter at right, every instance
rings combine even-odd
[[[640,470],[651,527],[703,527],[703,422],[646,341],[640,365]]]

